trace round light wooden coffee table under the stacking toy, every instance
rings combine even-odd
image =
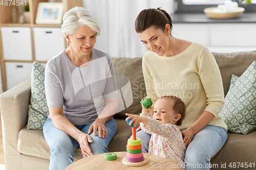
[[[121,169],[151,169],[151,168],[157,168],[157,169],[171,169],[171,170],[179,170],[179,168],[171,168],[171,166],[174,163],[173,160],[169,160],[167,158],[163,158],[158,155],[153,154],[145,154],[148,158],[148,163],[143,166],[126,166],[122,163],[122,159],[126,156],[126,152],[115,152],[117,154],[116,160],[105,160],[105,154],[98,154],[91,157],[83,158],[78,161],[75,161],[74,163],[70,164],[68,167],[65,168],[65,170],[84,170],[84,169],[104,169],[104,170],[121,170]],[[175,167],[174,165],[173,167]]]

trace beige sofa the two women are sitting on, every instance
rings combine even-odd
[[[241,76],[252,61],[256,60],[256,52],[216,53],[214,56],[221,70],[225,94],[229,88],[231,74]],[[126,117],[124,113],[138,114],[140,112],[139,101],[145,96],[145,85],[141,58],[112,58],[112,60],[116,75],[130,78],[134,96],[133,104],[114,116],[117,133],[109,144],[109,152],[118,152],[126,151],[127,138],[131,135],[131,128],[124,120]],[[31,93],[30,84],[30,80],[24,81],[4,92],[0,97],[7,170],[49,168],[50,147],[42,130],[27,130],[26,128]],[[79,148],[75,153],[75,160],[82,158]],[[218,168],[212,169],[237,169],[228,166],[233,162],[248,162],[247,164],[254,162],[256,164],[256,131],[247,135],[228,133],[224,147],[211,160],[212,164],[218,164]],[[224,163],[226,168],[221,168]]]

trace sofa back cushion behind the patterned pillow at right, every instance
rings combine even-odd
[[[212,54],[220,68],[225,95],[229,89],[231,75],[241,76],[249,65],[256,60],[256,51]]]

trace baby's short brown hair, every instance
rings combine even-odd
[[[174,101],[174,110],[181,115],[180,119],[178,120],[176,125],[181,126],[182,120],[185,118],[186,106],[184,102],[180,98],[174,95],[164,95],[161,96],[159,99],[169,99]]]

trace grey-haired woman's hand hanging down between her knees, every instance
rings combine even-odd
[[[79,145],[80,145],[80,148],[81,148],[81,151],[82,151],[82,155],[84,157],[93,156],[91,148],[89,147],[89,144],[88,144],[88,142],[89,143],[93,142],[90,135],[85,134],[85,133],[81,133],[78,137],[78,142],[79,142]]]

